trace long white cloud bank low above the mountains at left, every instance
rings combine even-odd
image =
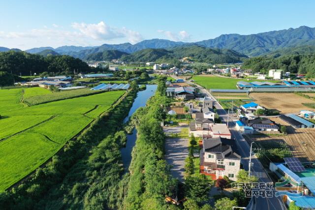
[[[126,41],[133,44],[141,40],[143,37],[138,31],[125,27],[111,27],[103,21],[97,24],[73,23],[68,30],[52,24],[51,27],[45,25],[42,28],[27,31],[0,31],[0,42],[6,43],[6,46],[10,48],[15,48],[23,43],[25,44],[24,49],[62,45],[95,46]]]

